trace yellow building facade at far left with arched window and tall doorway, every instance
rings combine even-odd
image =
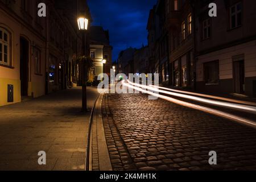
[[[0,5],[0,106],[45,93],[44,19],[35,22],[23,8]]]

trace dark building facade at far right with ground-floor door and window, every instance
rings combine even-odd
[[[256,2],[196,2],[196,89],[256,96]]]

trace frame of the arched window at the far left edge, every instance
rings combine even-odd
[[[0,31],[2,32],[2,38],[0,39],[0,44],[2,45],[0,65],[11,66],[11,33],[3,27],[0,27]],[[7,40],[5,40],[5,34],[7,35]],[[5,61],[5,46],[7,47],[7,62]]]

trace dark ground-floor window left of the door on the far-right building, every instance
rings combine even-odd
[[[204,81],[206,85],[218,85],[219,74],[218,61],[204,63]]]

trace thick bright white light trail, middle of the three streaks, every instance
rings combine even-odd
[[[187,98],[189,100],[199,101],[199,102],[203,102],[203,103],[210,104],[210,105],[229,107],[229,108],[233,108],[233,109],[237,109],[237,110],[243,110],[243,111],[246,111],[246,112],[249,112],[249,113],[256,114],[256,107],[254,107],[254,106],[245,106],[245,105],[233,104],[233,103],[229,103],[229,102],[213,101],[213,100],[209,100],[207,98],[200,98],[200,97],[188,96],[188,95],[185,95],[185,94],[180,94],[180,93],[175,93],[175,92],[168,92],[166,90],[159,90],[159,89],[154,88],[152,86],[136,84],[136,83],[133,83],[129,80],[127,80],[127,82],[131,85],[134,85],[134,86],[139,86],[139,87],[144,88],[144,89],[152,90],[152,91],[159,92],[159,93],[168,94],[168,95],[171,95],[171,96]]]

